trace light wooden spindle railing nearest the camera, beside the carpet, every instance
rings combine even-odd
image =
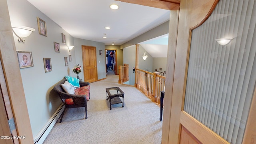
[[[148,72],[136,68],[135,87],[148,96],[152,102],[160,104],[161,91],[164,90],[165,76],[159,75],[159,72]]]

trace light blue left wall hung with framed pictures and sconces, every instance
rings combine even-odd
[[[52,90],[64,76],[76,77],[72,68],[82,65],[81,46],[96,46],[98,79],[106,78],[104,56],[98,55],[98,50],[104,50],[104,43],[73,38],[58,24],[45,16],[27,0],[7,0],[12,26],[28,26],[36,29],[25,42],[18,42],[14,35],[16,50],[32,52],[33,67],[22,68],[20,73],[28,107],[28,114],[33,137],[48,123],[51,116],[60,106],[59,96]],[[47,35],[38,32],[37,17],[46,22]],[[66,44],[75,46],[70,52],[66,44],[62,44],[61,33],[66,35]],[[60,43],[60,52],[54,51],[54,42]],[[72,55],[72,62],[65,66],[64,57]],[[44,71],[43,58],[51,58],[52,71]],[[99,62],[100,61],[100,62]],[[81,76],[82,79],[83,76]]]

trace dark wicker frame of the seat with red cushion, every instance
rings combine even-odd
[[[84,107],[85,108],[85,119],[87,119],[87,100],[85,95],[76,95],[76,94],[68,94],[64,91],[61,84],[63,84],[66,81],[66,78],[62,79],[56,86],[54,86],[54,90],[59,94],[60,99],[62,100],[62,103],[64,104],[65,108],[62,112],[62,116],[60,119],[60,123],[62,122],[62,118],[64,115],[64,112],[66,108],[78,108],[78,107]],[[80,87],[89,85],[88,82],[79,82]],[[90,96],[90,95],[89,95]],[[66,104],[65,99],[72,98],[74,104]]]

